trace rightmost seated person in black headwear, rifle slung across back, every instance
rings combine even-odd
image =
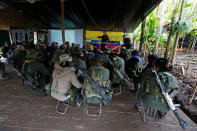
[[[170,62],[167,59],[160,58],[156,60],[154,68],[158,72],[158,76],[166,91],[173,98],[178,92],[178,82],[168,72],[172,70]],[[138,101],[138,107],[142,106],[143,102],[146,107],[159,110],[161,114],[166,114],[170,110],[153,72],[144,77],[140,85],[139,97],[141,97],[142,101]]]

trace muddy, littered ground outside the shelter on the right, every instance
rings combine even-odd
[[[181,109],[197,123],[197,93],[194,95],[192,104],[189,104],[191,94],[197,87],[197,51],[192,55],[179,54],[176,57],[173,74],[180,87],[177,101],[182,104]]]

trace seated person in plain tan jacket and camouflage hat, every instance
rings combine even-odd
[[[72,91],[70,90],[72,86],[77,89],[82,87],[75,75],[75,69],[70,66],[71,61],[72,57],[68,54],[59,56],[59,64],[55,64],[52,74],[53,82],[51,86],[51,96],[61,102],[70,102],[67,96],[72,95]],[[78,95],[80,95],[80,93],[76,94],[77,105],[80,106],[82,97]],[[74,99],[73,96],[71,97],[71,99]]]

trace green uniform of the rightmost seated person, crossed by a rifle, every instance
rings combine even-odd
[[[158,76],[169,93],[173,89],[178,90],[178,82],[176,78],[168,72],[159,72]],[[162,112],[169,111],[167,102],[161,93],[155,74],[149,74],[140,82],[140,92],[143,104],[147,107],[160,110]]]

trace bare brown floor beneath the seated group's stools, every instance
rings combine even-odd
[[[172,112],[161,127],[145,124],[135,109],[136,95],[123,89],[113,101],[103,107],[100,117],[87,116],[83,108],[73,106],[64,115],[55,112],[56,100],[50,96],[32,96],[30,89],[22,86],[16,73],[9,71],[9,80],[0,81],[1,131],[181,131]],[[190,123],[186,131],[196,131],[197,125],[181,110],[180,116]]]

